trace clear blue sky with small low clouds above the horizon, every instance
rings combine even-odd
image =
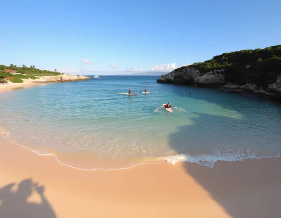
[[[0,2],[0,64],[82,75],[172,71],[281,44],[281,1]]]

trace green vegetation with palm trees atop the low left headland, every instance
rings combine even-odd
[[[56,69],[54,69],[54,71],[40,70],[37,69],[34,65],[27,67],[24,64],[21,67],[18,67],[17,65],[13,65],[13,64],[10,64],[9,66],[0,65],[0,74],[2,74],[2,72],[4,72],[5,70],[15,70],[18,73],[35,75],[35,76],[57,76],[61,74],[57,72]]]

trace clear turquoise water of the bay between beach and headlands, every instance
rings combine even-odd
[[[218,160],[281,153],[279,103],[159,84],[157,78],[101,76],[6,92],[0,95],[1,132],[80,169],[121,169],[163,160],[213,167]],[[145,87],[152,93],[140,93]],[[137,95],[117,94],[129,88]],[[177,109],[166,112],[160,106],[167,102]]]

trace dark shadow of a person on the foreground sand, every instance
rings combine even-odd
[[[55,218],[56,215],[44,196],[44,186],[38,186],[32,179],[10,183],[0,189],[1,218]],[[29,202],[28,198],[36,192],[40,203]]]

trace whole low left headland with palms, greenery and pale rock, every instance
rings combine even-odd
[[[90,77],[68,75],[49,70],[40,70],[34,65],[27,67],[22,65],[10,64],[9,66],[0,65],[0,83],[24,83],[24,82],[69,82],[77,80],[87,80]]]

